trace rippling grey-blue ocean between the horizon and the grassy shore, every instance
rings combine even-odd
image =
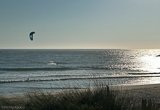
[[[160,50],[2,49],[0,95],[160,83]]]

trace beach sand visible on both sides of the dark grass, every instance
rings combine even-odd
[[[158,108],[160,108],[160,84],[150,85],[128,85],[128,86],[110,86],[111,90],[118,92],[116,96],[122,98],[120,101],[124,101],[129,106],[141,107],[142,99],[151,100]],[[11,102],[26,102],[27,98],[20,97],[3,97],[9,99]],[[124,100],[123,100],[124,99]]]

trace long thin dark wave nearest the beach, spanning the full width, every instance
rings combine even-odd
[[[65,81],[65,80],[93,80],[93,79],[118,79],[118,78],[143,78],[143,77],[160,77],[160,76],[147,76],[147,75],[133,75],[133,76],[94,76],[94,77],[70,77],[70,78],[57,78],[57,79],[25,79],[25,80],[1,80],[2,83],[18,83],[18,82],[41,82],[41,81]]]

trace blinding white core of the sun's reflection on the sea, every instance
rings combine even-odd
[[[160,83],[160,56],[157,56],[160,52],[150,51],[147,54],[143,54],[139,58],[140,70],[144,76],[137,80],[139,84],[157,84]],[[141,75],[141,74],[140,74]]]

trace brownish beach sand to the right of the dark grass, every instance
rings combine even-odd
[[[111,89],[120,90],[121,92],[118,92],[117,95],[125,97],[130,104],[139,106],[142,99],[145,99],[151,100],[160,109],[160,84],[118,86],[111,87]]]

